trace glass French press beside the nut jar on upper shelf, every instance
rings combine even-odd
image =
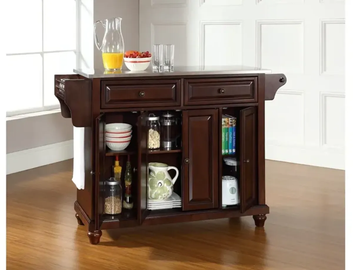
[[[178,126],[175,115],[166,112],[161,116],[161,147],[173,149],[177,147]]]

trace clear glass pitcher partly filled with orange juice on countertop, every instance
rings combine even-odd
[[[102,45],[99,44],[96,32],[97,23],[105,27]],[[102,52],[103,66],[106,70],[121,70],[124,58],[124,39],[121,34],[121,18],[106,19],[103,23],[98,20],[94,23],[94,40],[98,50]]]

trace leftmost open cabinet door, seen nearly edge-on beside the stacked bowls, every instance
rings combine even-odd
[[[104,212],[104,157],[106,155],[106,143],[104,141],[104,114],[96,118],[96,142],[95,142],[95,230],[99,230],[102,224]]]

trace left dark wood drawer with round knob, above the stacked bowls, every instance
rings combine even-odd
[[[180,80],[103,81],[101,108],[180,106]]]

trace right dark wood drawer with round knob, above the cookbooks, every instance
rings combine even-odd
[[[257,78],[187,79],[184,105],[257,102]]]

